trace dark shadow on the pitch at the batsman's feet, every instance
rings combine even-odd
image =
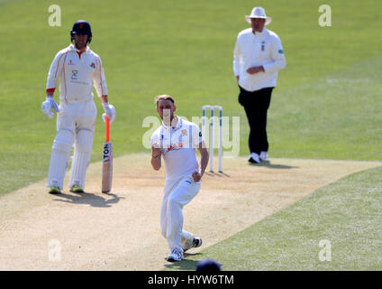
[[[63,200],[61,199],[54,199],[54,200],[68,202],[70,204],[77,204],[77,205],[90,205],[96,208],[109,208],[109,207],[112,207],[113,204],[116,204],[118,201],[123,199],[121,197],[118,197],[114,193],[105,193],[105,195],[112,196],[113,199],[106,200],[101,195],[96,193],[81,192],[81,193],[75,193],[75,194],[60,193],[57,195],[57,197],[62,198]]]

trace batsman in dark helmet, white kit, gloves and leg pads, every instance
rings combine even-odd
[[[115,108],[107,98],[105,72],[100,57],[87,46],[92,40],[90,24],[85,20],[74,23],[70,32],[71,44],[59,51],[50,65],[46,86],[46,100],[42,112],[53,117],[57,112],[57,134],[50,155],[48,176],[49,192],[60,193],[68,167],[68,158],[74,145],[71,165],[70,191],[84,192],[87,165],[93,147],[96,126],[96,104],[93,84],[101,99],[105,114],[114,121]],[[59,83],[59,106],[53,98]],[[105,121],[105,114],[103,115]]]

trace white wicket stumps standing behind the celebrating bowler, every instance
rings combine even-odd
[[[219,146],[218,146],[218,154],[219,154],[219,172],[223,172],[222,167],[222,158],[223,158],[223,107],[220,106],[203,106],[202,107],[202,134],[205,135],[205,121],[206,121],[206,110],[211,109],[211,117],[210,117],[210,172],[214,172],[214,109],[219,109]]]

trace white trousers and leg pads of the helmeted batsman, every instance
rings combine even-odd
[[[48,187],[63,187],[68,157],[75,144],[69,187],[77,183],[85,188],[87,164],[93,146],[96,126],[96,104],[93,99],[83,102],[61,102],[57,115],[57,134],[50,156]]]

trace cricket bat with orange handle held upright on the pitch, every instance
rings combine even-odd
[[[106,139],[104,143],[104,159],[102,163],[102,192],[109,192],[112,190],[113,181],[113,145],[110,141],[110,120],[105,115],[106,121]]]

